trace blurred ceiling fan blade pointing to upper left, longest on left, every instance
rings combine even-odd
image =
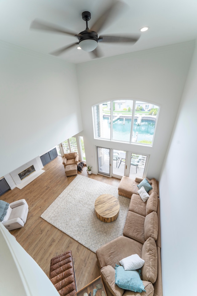
[[[79,36],[78,33],[69,31],[69,30],[64,29],[62,27],[59,27],[59,26],[57,26],[55,24],[43,22],[43,21],[38,20],[38,19],[35,19],[30,24],[30,29],[44,30],[44,31],[56,32],[56,33],[63,33],[63,34],[72,35],[72,36]]]

